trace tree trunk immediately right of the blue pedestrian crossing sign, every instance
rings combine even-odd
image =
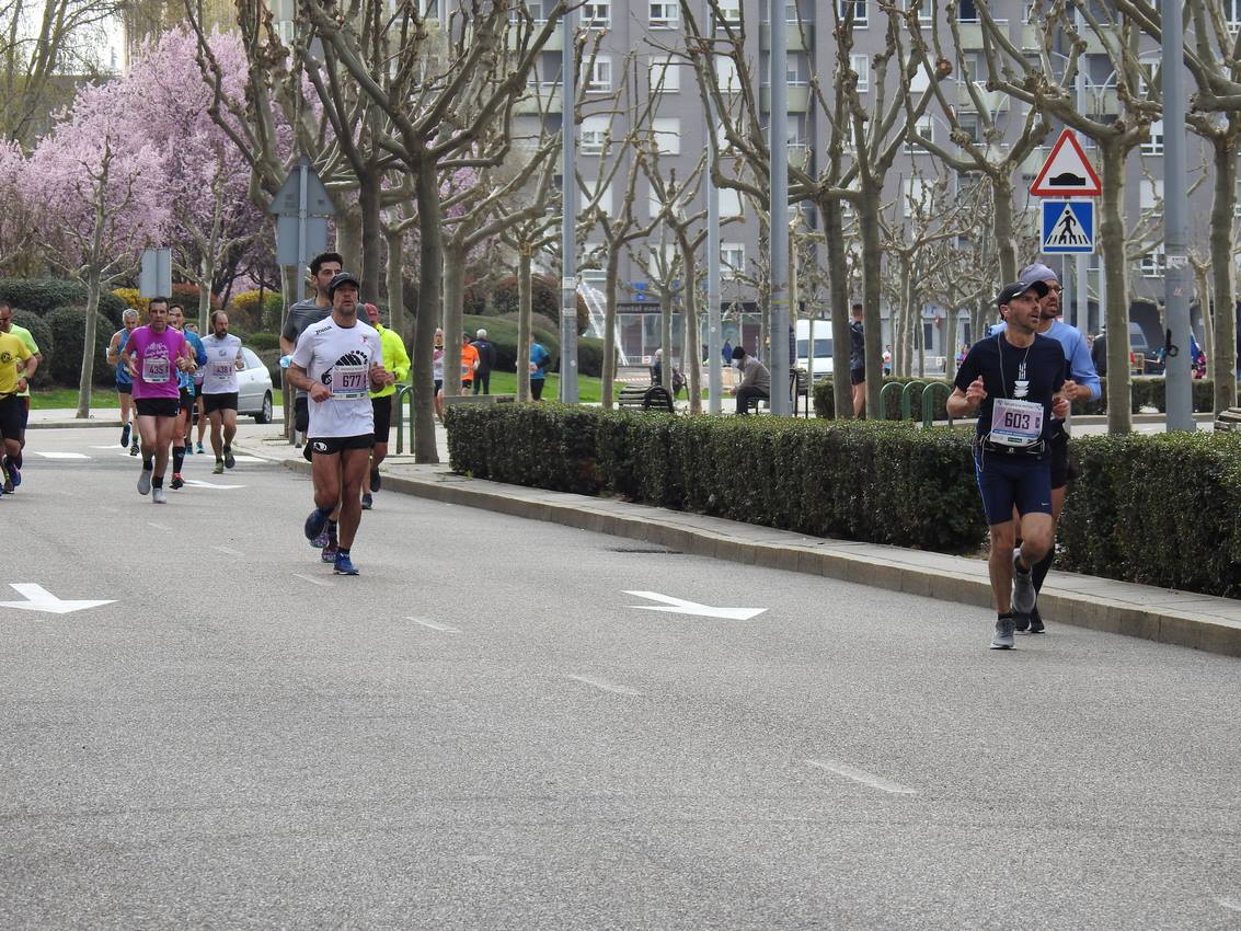
[[[1107,282],[1107,432],[1133,430],[1129,377],[1129,281],[1124,261],[1124,151],[1117,139],[1100,140],[1103,197],[1100,241]]]

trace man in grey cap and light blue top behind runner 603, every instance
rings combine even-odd
[[[1070,401],[1097,401],[1102,387],[1098,372],[1095,370],[1095,362],[1091,361],[1090,345],[1081,330],[1060,319],[1061,288],[1059,276],[1047,266],[1036,262],[1021,269],[1021,281],[1025,283],[1042,282],[1047,288],[1047,293],[1039,302],[1041,317],[1039,334],[1056,340],[1065,350],[1067,367],[1062,394]],[[999,333],[1005,325],[1001,323],[992,331]],[[1051,520],[1054,530],[1055,525],[1060,523],[1060,514],[1065,509],[1065,493],[1075,474],[1069,462],[1069,425],[1065,421],[1052,418],[1052,428],[1049,446],[1051,449]],[[1035,592],[1042,591],[1042,582],[1046,580],[1047,572],[1051,571],[1055,555],[1055,545],[1052,545],[1047,550],[1047,555],[1034,567]],[[1015,629],[1044,633],[1045,624],[1037,606],[1029,616],[1016,616]]]

